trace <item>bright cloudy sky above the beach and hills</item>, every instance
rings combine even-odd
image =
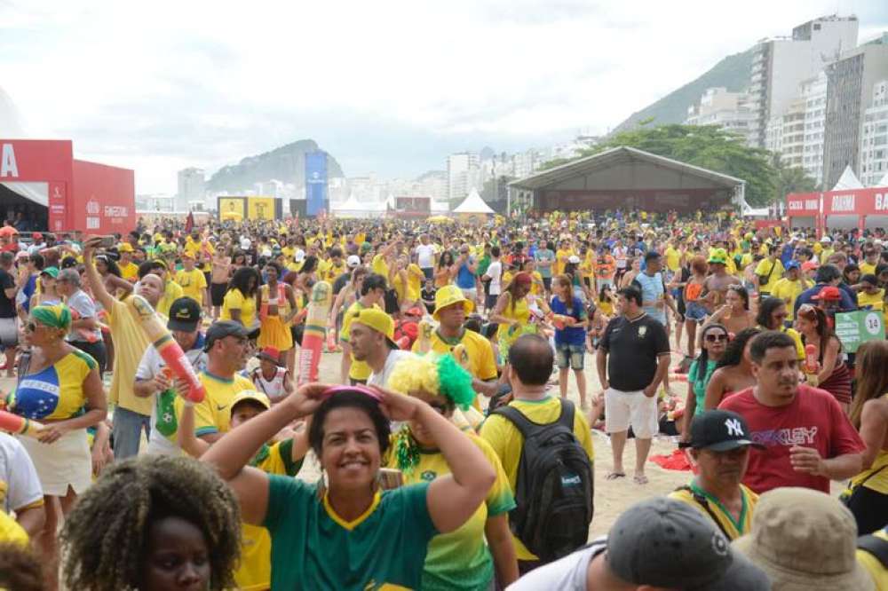
[[[303,138],[346,176],[410,178],[606,133],[832,13],[888,30],[885,0],[0,0],[0,98],[23,136],[135,169],[137,193]]]

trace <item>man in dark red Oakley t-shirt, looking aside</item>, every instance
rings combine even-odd
[[[776,331],[749,345],[757,385],[722,401],[719,408],[741,414],[752,441],[743,484],[756,493],[803,486],[829,493],[830,480],[860,472],[863,441],[829,392],[799,384],[796,345]]]

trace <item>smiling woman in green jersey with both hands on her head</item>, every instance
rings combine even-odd
[[[275,433],[309,414],[309,443],[325,474],[319,483],[247,467]],[[422,425],[452,474],[382,491],[391,421]],[[273,589],[418,588],[429,541],[472,517],[496,482],[480,448],[431,406],[362,386],[306,384],[201,460],[228,481],[242,520],[271,534]]]

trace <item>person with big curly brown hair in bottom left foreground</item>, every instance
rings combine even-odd
[[[61,543],[68,589],[232,588],[241,512],[201,462],[143,455],[102,472],[67,516]]]

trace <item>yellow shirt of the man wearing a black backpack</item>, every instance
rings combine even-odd
[[[517,408],[530,421],[543,425],[558,421],[561,415],[561,400],[552,396],[547,396],[542,400],[512,400],[509,406]],[[579,444],[589,454],[589,461],[595,461],[589,422],[586,421],[586,417],[579,407],[574,409],[574,433]],[[518,466],[521,459],[521,449],[524,446],[524,437],[521,437],[520,431],[511,421],[498,414],[488,416],[484,424],[481,425],[480,436],[493,447],[496,455],[503,462],[503,469],[506,476],[509,477],[509,486],[514,492],[518,482]],[[515,544],[515,555],[519,560],[537,559],[537,556],[531,554],[530,550],[514,535],[512,541]]]

